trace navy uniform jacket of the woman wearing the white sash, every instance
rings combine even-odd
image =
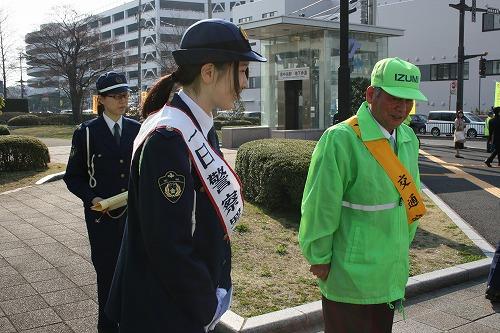
[[[177,95],[172,106],[194,119]],[[219,151],[213,128],[209,142]],[[159,186],[168,172],[184,177],[176,202]],[[180,134],[158,129],[137,149],[128,207],[107,314],[121,333],[204,332],[216,311],[216,288],[231,287],[231,249]]]

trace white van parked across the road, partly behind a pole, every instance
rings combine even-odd
[[[426,131],[432,136],[452,135],[455,127],[455,111],[430,111]],[[484,121],[471,112],[464,112],[465,134],[468,138],[484,135]]]

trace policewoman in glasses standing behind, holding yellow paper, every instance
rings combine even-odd
[[[107,333],[118,331],[116,323],[105,315],[104,306],[120,251],[127,207],[104,214],[90,207],[127,190],[132,146],[140,124],[123,117],[129,96],[124,75],[108,72],[98,78],[96,86],[99,117],[75,130],[64,181],[83,202],[97,273],[98,331]]]

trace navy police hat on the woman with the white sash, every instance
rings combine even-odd
[[[172,55],[177,65],[267,61],[252,51],[243,29],[221,19],[201,20],[190,26],[182,36],[180,49]]]

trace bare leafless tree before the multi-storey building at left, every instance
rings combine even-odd
[[[55,8],[55,13],[52,23],[26,35],[26,59],[44,69],[47,80],[57,82],[71,100],[74,122],[80,123],[83,96],[112,67],[112,59],[124,53],[113,51],[112,39],[101,38],[95,24],[98,17],[80,15],[70,7]]]

